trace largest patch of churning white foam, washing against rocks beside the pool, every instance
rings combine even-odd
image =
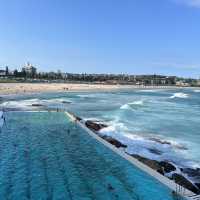
[[[138,154],[158,161],[169,160],[180,166],[190,166],[189,164],[191,164],[189,163],[191,161],[181,157],[182,152],[187,151],[187,149],[180,148],[184,145],[173,139],[163,139],[158,135],[133,134],[128,131],[128,128],[123,123],[117,122],[113,122],[112,125],[103,128],[99,133],[111,136],[127,145],[125,151],[129,154]]]

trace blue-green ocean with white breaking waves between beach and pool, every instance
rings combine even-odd
[[[32,104],[41,104],[40,107]],[[133,89],[2,96],[1,107],[64,108],[108,125],[129,153],[200,167],[200,89]],[[155,153],[157,152],[157,153]]]

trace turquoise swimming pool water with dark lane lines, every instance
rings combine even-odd
[[[64,113],[9,112],[0,133],[0,199],[173,198]]]

